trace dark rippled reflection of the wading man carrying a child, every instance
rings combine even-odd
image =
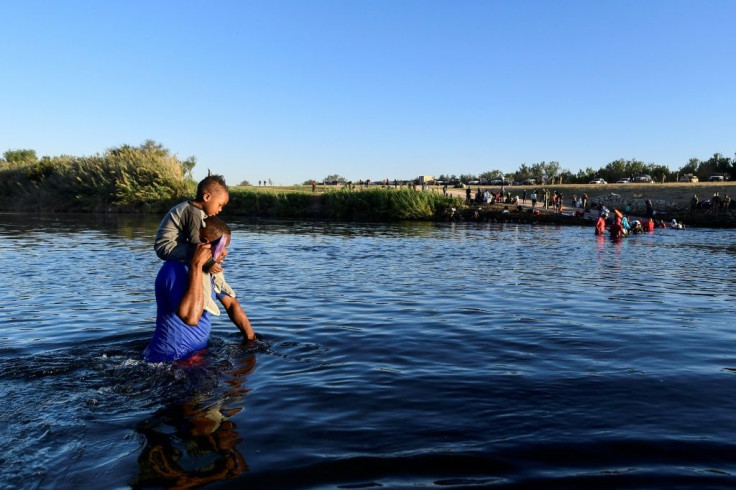
[[[157,411],[137,428],[146,438],[138,458],[138,478],[134,487],[194,488],[229,480],[248,465],[238,451],[242,439],[230,420],[242,407],[225,408],[249,390],[245,377],[255,368],[256,357],[235,361],[227,373],[230,389],[215,399],[177,402]]]

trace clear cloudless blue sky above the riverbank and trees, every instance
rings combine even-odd
[[[736,1],[3,2],[0,153],[228,183],[736,151]]]

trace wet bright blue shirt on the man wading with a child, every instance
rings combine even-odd
[[[209,274],[204,274],[209,279]],[[143,351],[148,362],[185,359],[207,347],[211,320],[203,312],[197,326],[187,325],[177,309],[189,286],[189,266],[167,260],[156,276],[156,331]]]

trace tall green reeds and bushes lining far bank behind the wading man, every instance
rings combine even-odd
[[[195,195],[183,162],[155,145],[0,165],[0,210],[164,213]],[[438,220],[459,199],[407,188],[232,187],[225,215],[343,221]]]

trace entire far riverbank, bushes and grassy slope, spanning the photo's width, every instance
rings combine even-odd
[[[189,163],[189,165],[187,165]],[[0,210],[22,212],[141,212],[162,214],[173,204],[194,197],[196,183],[187,178],[191,162],[181,162],[168,150],[146,143],[140,147],[114,148],[92,157],[44,157],[41,160],[0,162]],[[507,187],[513,195],[527,195],[542,186]],[[550,185],[551,192],[565,196],[587,193],[593,205],[643,214],[651,199],[655,210],[668,219],[676,217],[693,226],[736,227],[736,213],[715,216],[692,211],[690,199],[710,199],[714,193],[733,196],[735,182]],[[472,191],[475,192],[476,186]],[[498,190],[490,188],[491,191]],[[564,217],[535,217],[519,213],[502,215],[501,209],[464,204],[464,189],[440,188],[426,192],[407,187],[343,187],[318,185],[285,187],[231,187],[225,216],[274,219],[325,219],[339,221],[398,220],[518,220],[519,222],[566,222]],[[512,207],[512,211],[514,208]],[[561,221],[562,220],[562,221]]]

